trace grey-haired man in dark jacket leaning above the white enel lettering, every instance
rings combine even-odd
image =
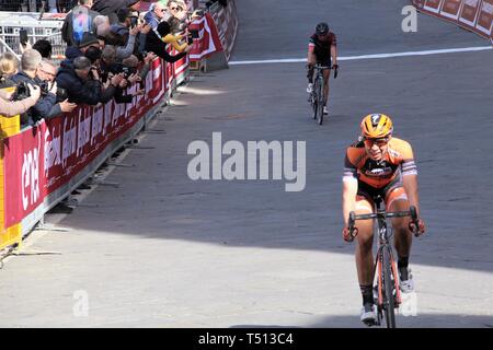
[[[21,117],[22,125],[34,125],[38,120],[50,115],[53,106],[56,104],[57,84],[49,84],[39,77],[42,56],[35,49],[25,50],[21,58],[21,72],[16,73],[11,80],[18,84],[14,93],[14,100],[24,100],[30,96],[31,90],[27,84],[41,88],[41,97],[36,104]]]

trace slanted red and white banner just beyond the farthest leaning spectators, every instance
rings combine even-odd
[[[199,20],[193,21],[188,28],[192,31],[198,31],[199,35],[198,38],[194,39],[192,50],[190,51],[191,61],[198,61],[215,52],[222,51],[222,45],[219,39],[216,23],[209,13],[206,13]]]

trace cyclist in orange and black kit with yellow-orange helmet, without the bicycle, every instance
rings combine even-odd
[[[377,195],[383,198],[388,211],[406,211],[414,206],[420,218],[417,170],[411,145],[392,137],[392,120],[383,114],[366,116],[360,128],[359,141],[347,148],[343,176],[343,238],[347,242],[353,240],[347,229],[349,212],[374,212],[372,198]],[[371,220],[365,220],[356,226],[356,267],[363,295],[360,319],[365,324],[372,324],[377,318],[372,294],[372,224]],[[410,293],[414,284],[408,265],[415,228],[409,218],[393,219],[392,226],[400,289]],[[417,233],[424,231],[424,222],[419,219]]]

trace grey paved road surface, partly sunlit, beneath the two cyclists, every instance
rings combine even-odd
[[[233,60],[305,57],[328,19],[340,55],[484,46],[419,16],[408,1],[239,1]],[[326,9],[319,11],[318,9]],[[309,117],[302,63],[234,66],[181,89],[153,130],[68,217],[37,231],[0,271],[0,326],[362,327],[354,245],[341,238],[345,148],[363,115],[393,116],[414,148],[428,234],[413,243],[417,316],[403,327],[493,327],[493,51],[341,62],[331,116]],[[284,182],[193,182],[190,142],[307,142],[307,187]],[[76,291],[89,296],[76,316]]]

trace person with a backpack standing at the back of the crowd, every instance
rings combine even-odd
[[[91,7],[93,0],[79,0],[79,5],[70,11],[61,27],[61,38],[68,46],[78,46],[84,33],[95,34],[94,19],[100,15]]]

